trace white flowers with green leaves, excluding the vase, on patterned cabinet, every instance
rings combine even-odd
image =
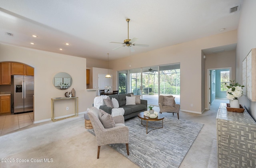
[[[230,80],[230,84],[229,86],[225,83],[226,87],[228,88],[228,90],[226,91],[227,93],[227,99],[229,100],[238,100],[239,97],[242,96],[243,94],[243,87],[240,84],[238,84],[237,82],[235,83],[235,81],[231,81]]]

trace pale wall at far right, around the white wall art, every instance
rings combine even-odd
[[[256,1],[243,2],[238,26],[238,43],[236,47],[236,82],[242,84],[242,61],[252,48],[256,48]],[[240,104],[248,110],[256,120],[256,102],[250,101],[246,96],[239,98]]]

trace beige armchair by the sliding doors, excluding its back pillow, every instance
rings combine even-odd
[[[173,96],[166,96],[166,97],[173,98]],[[160,95],[159,99],[158,99],[158,105],[159,105],[159,108],[160,108],[160,113],[162,113],[162,112],[172,112],[172,115],[174,115],[174,113],[177,113],[178,120],[179,120],[180,119],[179,118],[180,104],[176,104],[175,100],[174,100],[174,107],[172,107],[172,106],[164,106],[163,102],[164,102],[164,96]]]

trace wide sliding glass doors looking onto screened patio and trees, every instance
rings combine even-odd
[[[158,106],[159,95],[173,95],[180,104],[180,63],[119,71],[118,74],[120,94],[133,92],[153,106]]]

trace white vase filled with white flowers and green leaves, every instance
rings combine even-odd
[[[226,87],[228,90],[226,91],[227,93],[227,99],[230,102],[230,107],[231,108],[240,108],[240,104],[238,101],[238,98],[240,98],[243,95],[243,87],[238,82],[235,82],[234,80],[230,80],[230,84],[226,84]]]

